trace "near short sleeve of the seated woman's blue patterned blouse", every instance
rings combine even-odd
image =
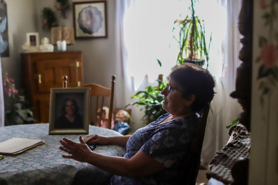
[[[159,128],[140,148],[167,168],[183,160],[195,134],[195,129],[178,122]]]

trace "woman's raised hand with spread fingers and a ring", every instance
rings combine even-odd
[[[60,140],[60,143],[68,149],[62,146],[60,146],[59,149],[71,154],[62,155],[62,157],[66,159],[74,159],[80,162],[87,162],[87,158],[89,158],[90,154],[93,152],[91,149],[89,149],[88,145],[86,145],[85,141],[82,139],[82,136],[79,136],[79,141],[80,143],[75,143],[74,141],[67,138]]]

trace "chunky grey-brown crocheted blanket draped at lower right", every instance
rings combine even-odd
[[[227,185],[233,182],[231,168],[234,162],[240,158],[249,158],[251,141],[250,133],[240,123],[231,127],[228,134],[233,134],[233,140],[216,152],[210,163],[211,171],[206,173],[208,179],[213,177]]]

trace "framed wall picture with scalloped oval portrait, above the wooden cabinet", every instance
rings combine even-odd
[[[72,3],[74,36],[78,38],[107,38],[106,1]]]

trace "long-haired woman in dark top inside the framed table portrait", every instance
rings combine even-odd
[[[78,111],[76,100],[70,97],[66,98],[60,111],[61,116],[54,123],[54,129],[83,128],[83,119]]]

